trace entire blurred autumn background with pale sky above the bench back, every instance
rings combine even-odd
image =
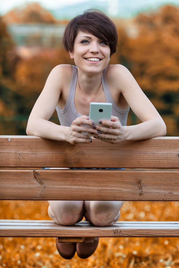
[[[6,3],[7,2],[7,3]],[[66,0],[0,4],[0,134],[25,135],[32,107],[51,69],[74,64],[61,44],[67,22],[97,8],[118,28],[111,64],[126,66],[179,136],[179,0]],[[56,111],[51,121],[59,124]],[[130,111],[128,124],[140,121]]]

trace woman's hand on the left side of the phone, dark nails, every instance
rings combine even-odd
[[[77,117],[66,131],[65,140],[71,144],[90,143],[92,137],[87,133],[96,134],[97,130],[94,127],[94,122],[89,120],[88,116]]]

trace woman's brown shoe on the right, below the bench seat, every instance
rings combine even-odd
[[[83,238],[84,242],[76,243],[76,252],[78,257],[86,259],[90,257],[98,247],[98,237]]]

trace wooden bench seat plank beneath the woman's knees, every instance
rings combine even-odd
[[[179,222],[120,222],[112,226],[98,227],[89,222],[63,226],[48,221],[47,225],[0,221],[1,237],[179,237]],[[7,225],[6,225],[7,223]],[[20,224],[21,223],[21,224]]]

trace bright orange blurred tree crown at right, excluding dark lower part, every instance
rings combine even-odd
[[[124,49],[134,77],[139,83],[150,77],[150,90],[157,88],[160,94],[178,91],[179,8],[166,5],[156,13],[138,15],[134,24],[138,36],[129,38]]]

